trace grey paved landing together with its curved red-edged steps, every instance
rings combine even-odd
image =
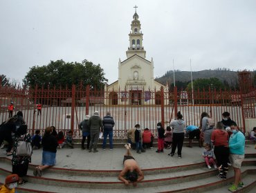
[[[122,170],[124,148],[99,149],[89,153],[80,148],[57,150],[57,163],[43,172],[41,178],[33,176],[33,168],[42,159],[42,150],[34,150],[32,164],[28,170],[28,183],[18,188],[18,192],[205,192],[228,186],[233,171],[230,167],[228,179],[217,179],[217,170],[207,169],[201,158],[203,148],[183,148],[183,158],[156,153],[156,148],[143,154],[131,150],[145,174],[138,187],[126,187],[118,181]],[[246,159],[243,174],[246,185],[252,183],[256,174],[256,154],[254,145],[246,145]],[[0,158],[0,182],[12,171],[11,157]],[[253,172],[250,172],[253,170]]]

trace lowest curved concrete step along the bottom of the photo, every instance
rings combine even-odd
[[[256,170],[244,167],[242,169],[242,179],[246,187],[242,190],[246,190],[250,183],[255,181]],[[2,172],[0,173],[1,181],[4,179]],[[106,185],[98,183],[89,187],[83,187],[83,183],[77,183],[76,187],[72,187],[71,182],[63,182],[55,184],[42,184],[42,183],[26,183],[22,187],[17,188],[17,192],[212,192],[221,190],[219,192],[228,192],[228,186],[233,181],[233,172],[228,174],[229,178],[221,181],[215,175],[211,175],[208,178],[194,179],[188,181],[182,181],[181,183],[169,183],[155,185],[154,187],[143,187],[143,183],[139,183],[138,187],[132,187],[131,185],[125,186],[123,184],[115,184],[111,189],[108,189]],[[51,181],[56,181],[51,179]],[[65,185],[66,183],[66,185]],[[136,188],[136,189],[135,189]]]

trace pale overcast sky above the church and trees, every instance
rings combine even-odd
[[[0,74],[20,81],[50,61],[100,63],[109,83],[127,59],[134,6],[154,77],[167,70],[255,70],[255,0],[1,0]]]

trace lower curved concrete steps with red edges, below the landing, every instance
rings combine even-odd
[[[242,171],[245,185],[250,185],[250,183],[255,181],[255,167],[245,166]],[[6,170],[0,170],[1,181],[8,173],[10,174],[10,172]],[[138,184],[136,192],[205,192],[217,189],[227,190],[229,183],[233,181],[232,170],[228,173],[228,179],[225,181],[217,179],[216,175],[212,174],[213,171],[208,171],[207,173],[208,176],[202,176],[201,174],[190,176],[184,174],[183,176],[176,176],[166,181],[165,179],[145,179]],[[32,190],[32,192],[37,192],[38,190],[45,192],[130,192],[131,189],[134,189],[134,187],[125,187],[125,185],[120,182],[101,181],[102,179],[98,178],[98,181],[88,182],[74,181],[73,179],[60,180],[46,177],[39,178],[29,175],[29,183],[19,187],[18,190],[21,189],[21,192],[28,192],[26,190]],[[150,182],[151,184],[149,184]]]

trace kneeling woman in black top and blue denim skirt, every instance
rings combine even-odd
[[[48,127],[44,132],[44,136],[42,138],[42,146],[43,146],[43,153],[42,153],[42,164],[35,167],[34,169],[34,176],[42,176],[42,170],[55,165],[56,163],[56,152],[57,146],[57,139],[55,136],[52,135],[53,128]]]

